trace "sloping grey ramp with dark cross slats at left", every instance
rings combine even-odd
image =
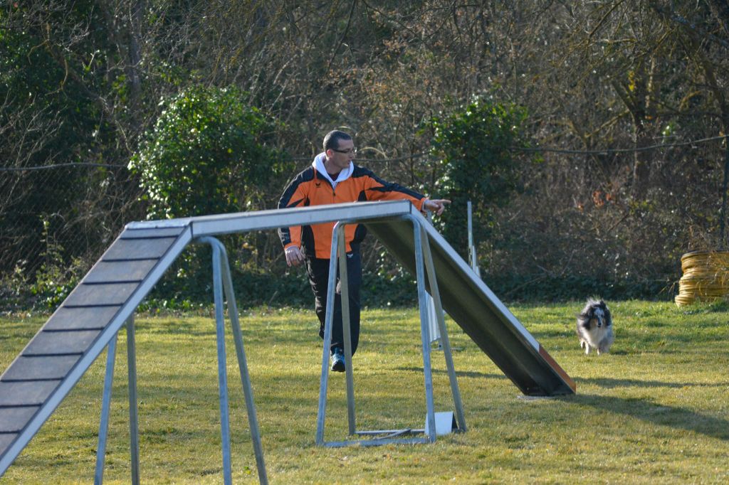
[[[0,376],[0,475],[192,238],[125,229]]]

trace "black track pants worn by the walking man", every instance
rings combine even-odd
[[[311,291],[314,293],[314,307],[319,317],[319,336],[324,338],[324,320],[327,313],[327,286],[329,285],[329,259],[307,258],[306,272],[308,273]],[[349,285],[349,322],[352,337],[352,354],[357,350],[359,343],[359,288],[362,285],[362,256],[359,251],[347,253],[347,280]],[[342,331],[342,297],[339,274],[337,275],[337,291],[334,299],[334,318],[332,320],[332,349],[344,349],[344,336]]]

